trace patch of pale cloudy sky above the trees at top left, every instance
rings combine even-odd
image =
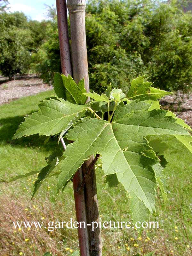
[[[46,19],[45,15],[45,5],[52,4],[56,6],[55,0],[8,0],[9,1],[9,11],[10,12],[24,12],[25,15],[31,20],[43,20]]]

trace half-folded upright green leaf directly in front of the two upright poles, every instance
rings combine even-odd
[[[84,104],[87,97],[84,88],[84,79],[80,80],[77,85],[73,78],[68,75],[55,73],[54,74],[54,90],[58,97],[68,100],[74,104]]]

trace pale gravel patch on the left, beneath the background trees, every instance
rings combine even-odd
[[[9,81],[6,77],[0,76],[0,105],[52,88],[52,86],[44,84],[43,81],[35,75],[17,76],[16,79],[12,81]]]

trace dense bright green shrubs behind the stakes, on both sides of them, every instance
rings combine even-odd
[[[192,14],[181,5],[152,0],[92,0],[86,7],[86,40],[91,90],[112,83],[126,92],[133,77],[152,75],[156,87],[191,89]],[[45,82],[61,71],[56,20],[33,56]]]

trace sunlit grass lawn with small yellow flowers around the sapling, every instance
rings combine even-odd
[[[53,255],[70,255],[78,250],[75,229],[15,229],[12,221],[68,221],[75,220],[72,182],[63,193],[56,194],[56,179],[47,179],[35,198],[30,201],[36,175],[7,183],[11,177],[38,170],[46,165],[58,147],[57,139],[44,144],[38,135],[11,140],[24,117],[37,111],[37,103],[51,95],[46,91],[0,106],[0,255],[41,256],[46,251]],[[161,138],[160,136],[158,138]],[[192,241],[192,156],[176,139],[164,137],[169,146],[164,169],[167,177],[168,203],[164,205],[157,191],[156,217],[159,229],[146,229],[139,239],[136,230],[102,229],[103,256],[134,255],[157,250],[155,255],[191,255]],[[121,186],[103,190],[101,169],[96,169],[100,218],[102,221],[130,221],[129,201]],[[20,254],[19,254],[20,253]],[[22,254],[21,254],[22,253]]]

